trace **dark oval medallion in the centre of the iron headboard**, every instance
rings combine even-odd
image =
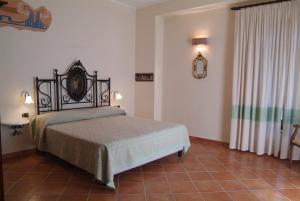
[[[87,93],[87,78],[85,71],[74,68],[67,77],[67,91],[71,99],[81,101]]]

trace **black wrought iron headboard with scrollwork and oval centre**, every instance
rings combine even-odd
[[[53,79],[35,78],[37,113],[110,106],[110,78],[90,75],[80,61]]]

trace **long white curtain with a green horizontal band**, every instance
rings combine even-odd
[[[300,123],[300,0],[241,9],[235,20],[230,148],[287,158]]]

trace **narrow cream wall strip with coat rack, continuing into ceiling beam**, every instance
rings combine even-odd
[[[156,23],[158,16],[166,16],[174,13],[190,13],[197,10],[210,9],[212,7],[220,7],[245,0],[169,0],[161,4],[138,9],[136,16],[136,72],[154,72],[155,66],[159,65],[155,58],[158,54],[156,50],[157,28],[160,22]],[[254,0],[251,0],[251,2]],[[159,41],[159,40],[158,40]],[[154,75],[156,76],[156,75]],[[154,118],[154,114],[159,114],[159,97],[154,98],[154,83],[137,82],[135,85],[135,114],[137,116]],[[155,101],[154,101],[155,99]],[[154,107],[154,105],[156,105]]]

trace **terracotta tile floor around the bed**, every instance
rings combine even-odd
[[[115,176],[113,192],[53,156],[6,160],[6,201],[300,201],[300,163],[192,139],[176,154]]]

